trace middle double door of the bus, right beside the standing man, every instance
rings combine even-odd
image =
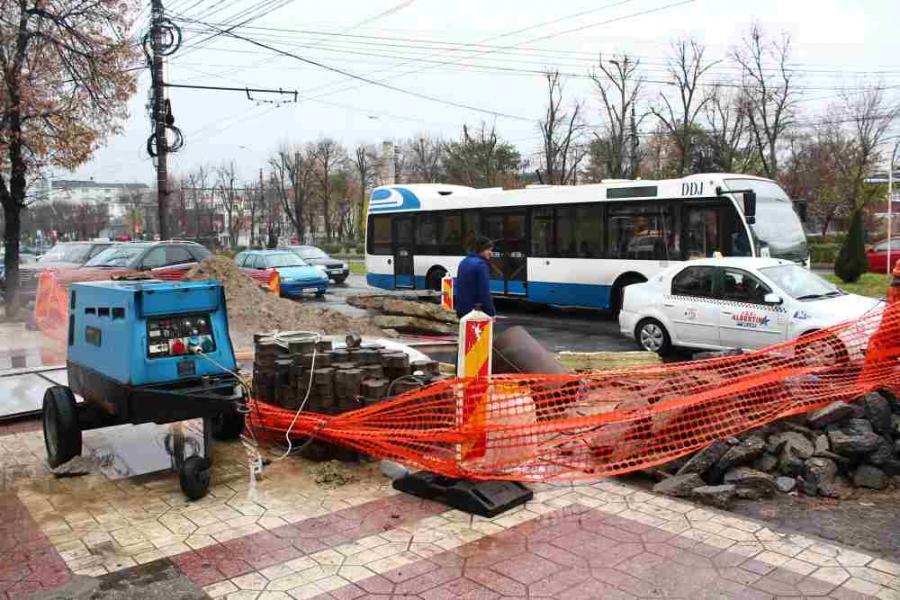
[[[491,259],[491,292],[525,296],[528,284],[528,217],[521,213],[487,214],[482,232],[494,241]]]

